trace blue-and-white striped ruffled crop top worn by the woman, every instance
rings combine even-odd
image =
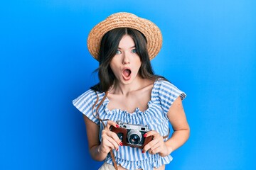
[[[105,93],[97,92],[99,101],[92,111],[92,106],[95,104],[97,95],[95,91],[88,90],[73,101],[73,105],[78,108],[84,115],[90,120],[100,125],[100,140],[101,131],[103,125],[92,113],[95,113],[97,105],[102,100]],[[123,123],[129,123],[133,125],[148,125],[150,130],[156,130],[162,136],[168,135],[169,132],[169,119],[167,113],[172,103],[181,96],[181,99],[186,97],[183,91],[180,91],[176,86],[171,84],[169,81],[158,79],[154,82],[154,86],[151,91],[151,99],[148,103],[146,111],[140,111],[136,108],[134,113],[128,113],[120,109],[109,110],[107,104],[110,102],[108,98],[102,103],[99,108],[99,114],[101,119],[108,120],[121,120]],[[168,138],[164,139],[164,141]],[[114,157],[117,164],[124,167],[125,169],[154,169],[159,168],[163,164],[169,164],[171,162],[171,155],[161,157],[159,154],[149,154],[148,152],[142,153],[142,149],[137,147],[122,146],[119,147],[118,151],[113,150]],[[105,162],[113,164],[110,154],[108,154]]]

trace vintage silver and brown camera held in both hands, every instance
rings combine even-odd
[[[119,128],[110,127],[112,132],[115,132],[124,146],[143,148],[147,143],[153,140],[152,136],[144,137],[146,132],[149,132],[147,125],[131,125],[117,121]]]

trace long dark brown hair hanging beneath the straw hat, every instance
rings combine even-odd
[[[139,32],[139,30],[135,30],[133,28],[115,28],[108,31],[102,38],[99,52],[100,66],[95,70],[95,72],[98,72],[100,82],[95,86],[92,86],[90,89],[106,92],[110,89],[110,86],[114,84],[114,79],[116,78],[114,77],[114,73],[110,68],[110,62],[114,55],[116,55],[119,42],[124,35],[130,35],[132,37],[137,54],[142,61],[142,66],[138,72],[139,76],[142,77],[142,79],[164,79],[164,77],[154,74],[151,67],[151,62],[149,60],[145,36]]]

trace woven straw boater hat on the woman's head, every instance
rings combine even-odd
[[[147,19],[139,18],[132,13],[121,12],[107,17],[90,31],[87,47],[92,57],[96,60],[98,60],[100,42],[103,35],[114,28],[134,28],[143,33],[147,40],[150,60],[159,53],[162,45],[162,35],[156,24]]]

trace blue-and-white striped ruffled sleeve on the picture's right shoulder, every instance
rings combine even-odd
[[[176,98],[181,96],[181,100],[183,100],[186,97],[186,94],[169,81],[160,80],[159,84],[159,101],[164,113],[167,114]]]

